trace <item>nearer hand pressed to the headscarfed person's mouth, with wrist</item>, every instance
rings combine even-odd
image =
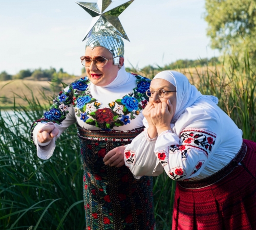
[[[157,128],[158,135],[165,130],[170,129],[170,122],[174,116],[173,105],[168,100],[159,102],[151,111],[151,120]]]

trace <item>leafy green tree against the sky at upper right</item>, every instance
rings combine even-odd
[[[211,48],[240,59],[247,50],[256,60],[256,1],[206,0],[205,20]]]

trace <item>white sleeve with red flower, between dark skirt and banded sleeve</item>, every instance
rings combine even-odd
[[[141,176],[158,176],[163,172],[155,153],[157,137],[150,139],[147,128],[127,145],[124,151],[125,165],[131,170],[135,178]]]

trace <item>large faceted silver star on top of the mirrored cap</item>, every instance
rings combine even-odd
[[[118,16],[127,7],[129,7],[133,1],[134,0],[120,0],[112,2],[112,0],[98,0],[97,3],[76,2],[93,18],[96,17],[94,18],[83,40],[92,36],[94,27],[97,27],[97,22],[103,19],[104,24],[107,25],[108,29],[112,30],[118,36],[130,41],[121,25]],[[96,30],[98,29],[96,28]]]

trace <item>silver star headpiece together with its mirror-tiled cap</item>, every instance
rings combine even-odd
[[[98,0],[97,3],[76,2],[86,10],[92,17],[92,24],[88,29],[83,41],[87,40],[86,48],[104,47],[109,50],[114,64],[119,64],[119,58],[124,55],[124,44],[122,38],[129,40],[118,16],[134,0]],[[122,37],[122,38],[121,38]]]

